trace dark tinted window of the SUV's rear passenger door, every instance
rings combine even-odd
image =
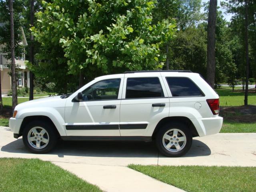
[[[163,96],[162,87],[157,77],[127,79],[126,98],[152,98]]]

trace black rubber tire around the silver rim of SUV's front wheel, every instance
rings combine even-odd
[[[42,149],[36,149],[36,148],[33,148],[29,141],[28,141],[28,134],[30,132],[30,130],[34,127],[42,127],[44,128],[47,133],[48,133],[48,144],[42,148]],[[40,130],[40,129],[39,129]],[[54,148],[54,146],[56,145],[57,143],[57,140],[58,140],[58,134],[56,133],[56,130],[55,128],[52,126],[52,124],[48,123],[48,122],[43,122],[43,121],[33,121],[33,122],[30,122],[28,123],[23,132],[22,132],[22,140],[23,140],[23,143],[24,145],[26,146],[26,148],[32,152],[32,153],[36,153],[36,154],[43,154],[43,153],[47,153],[49,152],[50,150],[52,150],[52,148]],[[41,143],[41,142],[40,142]],[[44,144],[44,143],[43,143]]]

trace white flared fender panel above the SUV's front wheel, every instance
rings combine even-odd
[[[66,136],[65,120],[64,120],[64,107],[50,108],[50,107],[37,107],[28,108],[18,111],[17,118],[25,118],[28,116],[47,116],[52,120],[56,126],[60,136]]]

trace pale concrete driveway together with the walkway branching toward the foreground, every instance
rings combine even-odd
[[[40,158],[74,172],[106,191],[179,191],[125,166],[128,164],[256,166],[256,133],[194,138],[183,157],[158,154],[153,142],[64,142],[48,154],[31,154],[22,139],[0,127],[0,157]],[[138,182],[139,181],[139,182]]]

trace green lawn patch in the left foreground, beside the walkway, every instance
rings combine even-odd
[[[39,159],[0,158],[0,191],[101,192],[62,168]]]

